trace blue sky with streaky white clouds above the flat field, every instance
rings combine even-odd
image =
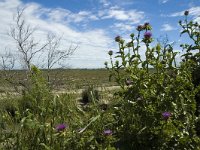
[[[17,8],[24,7],[26,23],[37,29],[36,41],[42,43],[53,33],[62,36],[61,49],[78,45],[66,61],[71,68],[104,68],[107,52],[118,51],[114,38],[120,35],[128,42],[145,22],[152,25],[154,39],[167,35],[181,51],[180,43],[187,42],[178,25],[184,11],[200,23],[200,0],[0,0],[0,54],[5,49],[15,52],[16,43],[8,33]]]

